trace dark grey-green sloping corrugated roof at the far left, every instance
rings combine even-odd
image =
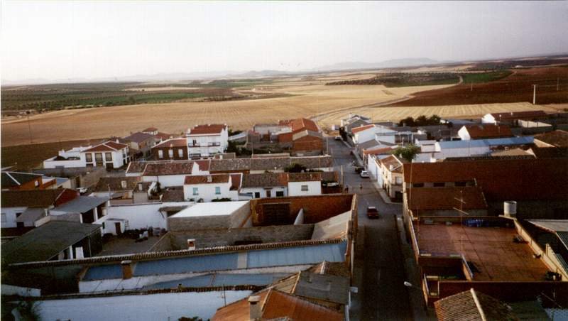
[[[2,264],[47,261],[100,230],[101,225],[51,221],[2,244]]]

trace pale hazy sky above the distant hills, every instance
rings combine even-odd
[[[568,52],[568,2],[2,1],[4,80]]]

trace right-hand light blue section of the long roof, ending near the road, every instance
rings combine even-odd
[[[318,244],[311,246],[286,247],[249,251],[247,266],[286,266],[295,264],[319,263],[321,261],[343,262],[345,260],[346,241],[337,244]]]

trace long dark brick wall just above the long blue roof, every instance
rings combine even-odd
[[[197,249],[211,246],[235,245],[237,241],[260,241],[261,243],[300,241],[311,239],[313,230],[314,224],[300,224],[271,227],[245,227],[242,229],[201,229],[191,232],[168,232],[170,249],[165,246],[164,241],[155,251],[186,249],[187,239],[195,239]]]

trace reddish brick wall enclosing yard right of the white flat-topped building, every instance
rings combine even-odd
[[[262,226],[264,224],[266,217],[264,217],[262,205],[266,203],[290,203],[288,224],[293,224],[300,209],[304,209],[304,222],[313,224],[351,210],[353,197],[354,195],[351,194],[333,194],[251,200],[253,225]]]

